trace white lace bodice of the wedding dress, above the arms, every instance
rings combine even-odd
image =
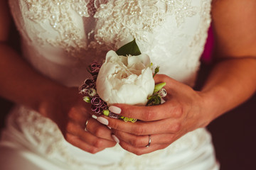
[[[24,57],[67,86],[85,67],[136,38],[161,73],[193,85],[210,24],[210,0],[10,0]],[[64,76],[65,75],[65,76]]]

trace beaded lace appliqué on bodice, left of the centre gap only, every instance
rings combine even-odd
[[[32,21],[42,23],[49,21],[50,26],[59,35],[57,38],[48,38],[46,41],[55,47],[62,47],[73,57],[80,57],[82,51],[87,50],[87,41],[81,37],[80,29],[70,17],[73,9],[81,17],[93,16],[96,8],[106,0],[24,0],[28,6],[26,16]],[[40,34],[39,34],[40,35]],[[38,41],[42,40],[38,35]],[[44,44],[41,42],[40,44]]]

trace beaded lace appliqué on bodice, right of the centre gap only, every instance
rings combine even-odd
[[[104,21],[95,33],[95,41],[90,43],[90,47],[104,45],[106,50],[117,50],[117,42],[129,37],[149,42],[146,34],[157,31],[154,28],[161,26],[167,15],[174,15],[177,26],[181,26],[186,17],[196,15],[198,10],[196,6],[191,6],[191,0],[162,1],[164,4],[161,5],[158,5],[157,0],[118,0],[102,5],[95,18]]]

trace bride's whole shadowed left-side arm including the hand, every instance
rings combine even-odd
[[[8,0],[0,1],[0,25],[0,96],[50,118],[68,142],[86,152],[113,147],[116,142],[110,130],[91,118],[90,106],[82,101],[78,89],[65,88],[38,74],[8,45],[11,26]]]

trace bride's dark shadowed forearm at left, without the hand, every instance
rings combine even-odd
[[[0,96],[38,111],[64,87],[31,68],[8,45],[0,44]]]

